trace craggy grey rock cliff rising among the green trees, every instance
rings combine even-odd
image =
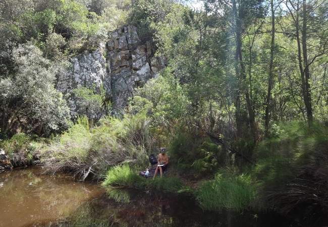
[[[124,111],[134,88],[157,77],[165,67],[164,59],[152,56],[151,44],[140,41],[136,27],[126,26],[108,32],[106,44],[72,60],[71,71],[58,77],[57,89],[65,94],[79,86],[94,87],[97,92],[103,87],[106,98],[112,100],[114,113]],[[69,103],[74,116],[78,103],[73,96]]]

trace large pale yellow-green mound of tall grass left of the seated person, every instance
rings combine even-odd
[[[103,178],[107,169],[121,163],[145,166],[154,149],[149,127],[143,113],[123,119],[106,117],[94,127],[86,117],[79,117],[43,150],[42,161],[50,172],[71,172],[82,180],[89,175]]]

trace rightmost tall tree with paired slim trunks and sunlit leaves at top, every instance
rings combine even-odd
[[[301,88],[306,116],[309,122],[313,120],[310,68],[320,56],[328,53],[328,46],[326,45],[328,36],[325,34],[327,20],[322,19],[327,10],[325,2],[325,0],[308,2],[306,0],[302,2],[300,0],[288,0],[285,3],[294,26],[293,31],[295,33],[293,33],[293,37],[295,37],[297,42]],[[311,52],[309,52],[308,46],[312,47],[310,49]]]

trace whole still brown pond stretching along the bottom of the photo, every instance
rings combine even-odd
[[[206,212],[188,195],[152,190],[106,191],[96,182],[41,173],[42,167],[0,173],[1,227],[302,226],[275,213]]]

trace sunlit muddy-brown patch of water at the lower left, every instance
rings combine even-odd
[[[0,174],[0,226],[24,226],[69,215],[82,201],[103,190],[72,181],[69,175],[46,176],[40,168]]]

